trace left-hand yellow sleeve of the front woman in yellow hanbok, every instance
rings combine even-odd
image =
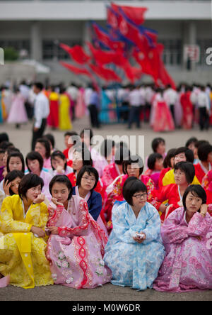
[[[11,197],[6,197],[1,206],[0,227],[3,233],[30,232],[32,224],[13,220],[13,202]]]

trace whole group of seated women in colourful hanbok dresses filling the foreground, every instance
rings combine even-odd
[[[25,161],[11,143],[0,143],[0,287],[212,289],[212,146],[167,155],[156,148],[143,175],[139,155],[110,143],[100,177],[100,153],[91,153],[85,131],[81,138],[85,144],[66,155],[54,145],[51,154],[47,138],[38,139]],[[165,148],[163,139],[154,141]]]

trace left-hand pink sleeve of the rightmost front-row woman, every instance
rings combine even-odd
[[[165,219],[161,226],[161,236],[165,243],[182,243],[189,237],[188,227],[180,225],[180,211],[177,209]]]

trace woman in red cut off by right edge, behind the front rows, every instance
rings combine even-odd
[[[200,162],[194,165],[195,174],[199,182],[201,183],[204,176],[212,168],[212,145],[204,143],[198,148],[198,157]]]

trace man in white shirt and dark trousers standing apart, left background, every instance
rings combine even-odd
[[[35,150],[36,140],[42,137],[47,125],[47,117],[49,116],[49,100],[42,93],[42,89],[43,85],[40,82],[35,83],[33,86],[33,92],[36,94],[36,97],[34,104],[35,123],[33,125],[32,150]]]

